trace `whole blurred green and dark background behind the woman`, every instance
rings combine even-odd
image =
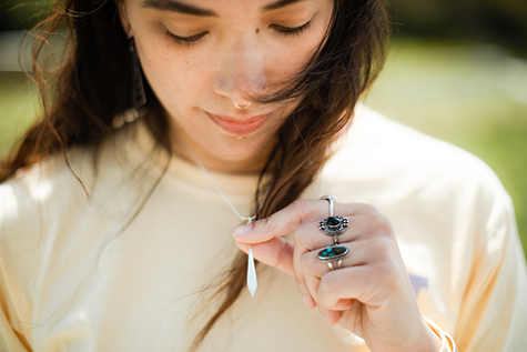
[[[38,111],[38,91],[18,69],[18,31],[41,19],[49,3],[0,6],[0,157]],[[527,1],[388,7],[391,54],[366,103],[485,160],[513,197],[527,253]]]

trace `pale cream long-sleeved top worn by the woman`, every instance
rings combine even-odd
[[[236,253],[240,220],[141,123],[97,155],[69,157],[82,184],[55,157],[0,185],[0,351],[185,351],[214,309],[199,291]],[[256,177],[213,177],[253,212]],[[511,201],[482,161],[361,108],[303,197],[322,194],[389,217],[423,315],[460,351],[527,350]],[[202,351],[367,348],[308,311],[294,279],[260,265],[255,298],[244,292]]]

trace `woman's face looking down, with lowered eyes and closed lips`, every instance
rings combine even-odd
[[[175,152],[192,160],[189,147],[212,170],[260,171],[294,103],[251,97],[276,91],[304,68],[332,7],[332,0],[124,0],[124,28],[171,121]]]

